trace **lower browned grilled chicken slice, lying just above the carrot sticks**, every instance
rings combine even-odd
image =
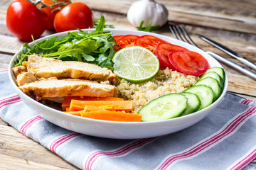
[[[18,88],[36,101],[44,97],[58,96],[117,96],[117,88],[115,86],[82,79],[57,79],[51,77],[24,84]]]

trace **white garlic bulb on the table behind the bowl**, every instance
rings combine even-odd
[[[168,18],[168,11],[164,4],[154,0],[134,1],[127,12],[127,19],[133,26],[142,27],[163,26]]]

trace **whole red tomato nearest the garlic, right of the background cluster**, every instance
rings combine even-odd
[[[68,4],[54,18],[54,28],[59,32],[77,28],[93,28],[94,17],[90,8],[81,3]]]

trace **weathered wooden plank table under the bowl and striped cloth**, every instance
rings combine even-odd
[[[75,2],[77,0],[73,0]],[[134,0],[80,0],[92,8],[95,18],[104,15],[115,28],[136,30],[126,18]],[[160,1],[160,0],[159,0]],[[237,60],[199,39],[195,34],[213,40],[244,55],[256,63],[256,1],[251,0],[161,0],[169,10],[169,21],[185,24],[193,40],[204,50],[217,52],[233,62]],[[7,69],[9,61],[23,42],[6,28],[6,9],[10,0],[0,0],[0,69]],[[53,31],[47,30],[43,35]],[[167,26],[156,33],[171,36]],[[241,64],[241,63],[239,63]],[[223,64],[228,74],[228,91],[256,101],[256,81]],[[0,169],[78,169],[58,155],[0,119]]]

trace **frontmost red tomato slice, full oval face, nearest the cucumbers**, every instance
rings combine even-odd
[[[198,52],[172,51],[168,57],[171,64],[185,74],[200,76],[210,68],[208,61]]]

